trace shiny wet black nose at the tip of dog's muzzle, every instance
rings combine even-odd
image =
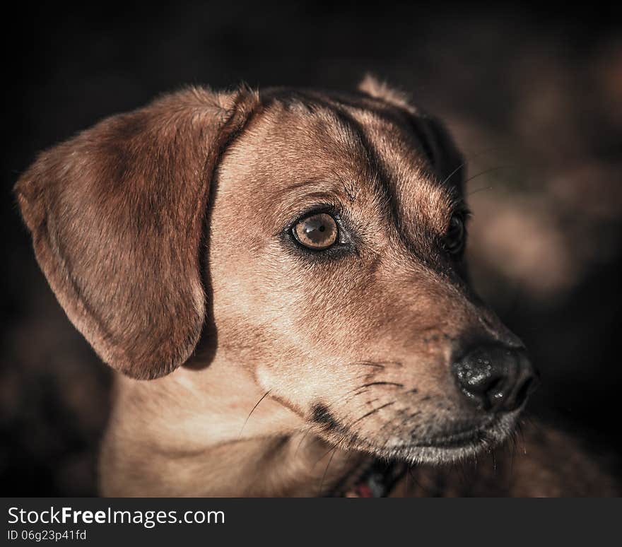
[[[485,411],[519,408],[537,384],[527,353],[500,344],[477,346],[452,363],[462,392]]]

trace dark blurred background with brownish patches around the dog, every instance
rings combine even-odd
[[[474,281],[543,373],[531,414],[619,474],[621,13],[491,5],[49,3],[5,18],[2,495],[95,493],[112,383],[18,217],[11,187],[37,152],[184,83],[347,90],[366,71],[444,118],[469,159]]]

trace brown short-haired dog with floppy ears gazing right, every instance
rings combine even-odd
[[[37,260],[124,373],[102,492],[589,492],[596,466],[564,481],[548,433],[510,482],[426,471],[505,440],[535,383],[467,284],[462,179],[442,126],[371,78],[184,90],[44,153],[16,185]]]

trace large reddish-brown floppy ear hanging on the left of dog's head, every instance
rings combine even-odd
[[[16,184],[61,306],[131,377],[166,375],[196,346],[209,185],[256,105],[250,90],[168,95],[42,153]]]

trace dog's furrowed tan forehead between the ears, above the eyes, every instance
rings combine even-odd
[[[442,232],[454,194],[430,170],[408,115],[365,96],[280,93],[264,99],[230,160],[245,180],[269,180],[274,194],[321,185]]]

